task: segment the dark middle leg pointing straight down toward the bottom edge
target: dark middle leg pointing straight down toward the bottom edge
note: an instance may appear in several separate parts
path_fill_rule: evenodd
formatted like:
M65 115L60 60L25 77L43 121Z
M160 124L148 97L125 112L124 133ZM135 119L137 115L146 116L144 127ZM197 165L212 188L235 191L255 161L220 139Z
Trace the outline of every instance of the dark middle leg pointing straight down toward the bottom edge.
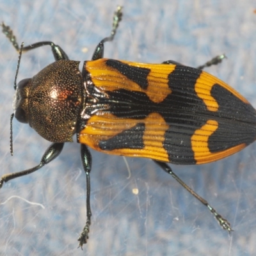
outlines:
M84 172L86 173L86 215L87 220L86 224L83 228L83 231L81 235L79 236L79 246L83 249L83 244L87 243L87 240L89 238L89 231L90 231L90 225L91 225L91 207L90 207L90 193L91 193L91 184L90 184L90 172L92 168L92 156L86 145L81 144L81 159L83 163Z

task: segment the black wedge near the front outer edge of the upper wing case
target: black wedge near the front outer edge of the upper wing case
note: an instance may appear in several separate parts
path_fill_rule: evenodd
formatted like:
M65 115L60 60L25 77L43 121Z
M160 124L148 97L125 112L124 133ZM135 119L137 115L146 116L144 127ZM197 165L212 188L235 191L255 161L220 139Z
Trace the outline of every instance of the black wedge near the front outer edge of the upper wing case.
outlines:
M138 84L141 89L146 90L148 88L148 74L150 73L150 68L140 68L130 66L122 61L118 60L106 60L106 65L111 68L115 68L122 75L126 76L132 82Z

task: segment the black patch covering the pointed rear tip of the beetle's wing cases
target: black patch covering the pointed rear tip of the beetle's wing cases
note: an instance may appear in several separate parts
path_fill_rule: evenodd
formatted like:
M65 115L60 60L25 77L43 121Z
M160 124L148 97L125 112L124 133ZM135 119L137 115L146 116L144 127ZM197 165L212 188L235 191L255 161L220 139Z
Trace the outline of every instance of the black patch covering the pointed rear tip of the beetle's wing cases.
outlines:
M252 143L256 138L256 111L252 105L239 100L219 84L212 86L211 95L218 102L218 116L221 116L219 119L222 122L219 121L218 132L209 138L210 151L218 152L220 148Z

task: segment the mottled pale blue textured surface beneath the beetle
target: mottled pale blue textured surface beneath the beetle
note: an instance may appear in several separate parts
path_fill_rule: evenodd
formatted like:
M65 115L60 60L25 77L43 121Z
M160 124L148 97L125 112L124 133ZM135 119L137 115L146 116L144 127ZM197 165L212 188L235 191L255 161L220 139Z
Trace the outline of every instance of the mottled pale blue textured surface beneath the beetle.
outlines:
M105 56L196 67L218 54L228 59L207 68L256 106L256 8L252 0L89 1L3 0L0 20L19 42L52 40L71 60L90 60L109 35L116 5L124 17ZM88 50L88 51L87 51ZM87 52L86 52L87 51ZM49 47L22 56L19 79L53 61ZM17 53L0 34L0 174L31 168L49 143L28 125L9 118ZM42 170L4 184L0 191L1 255L255 255L256 144L202 166L172 166L235 230L222 230L211 214L149 159L93 154L92 226L84 251L77 237L86 221L85 175L79 145L67 143ZM138 188L138 195L132 189ZM19 198L44 205L31 205Z

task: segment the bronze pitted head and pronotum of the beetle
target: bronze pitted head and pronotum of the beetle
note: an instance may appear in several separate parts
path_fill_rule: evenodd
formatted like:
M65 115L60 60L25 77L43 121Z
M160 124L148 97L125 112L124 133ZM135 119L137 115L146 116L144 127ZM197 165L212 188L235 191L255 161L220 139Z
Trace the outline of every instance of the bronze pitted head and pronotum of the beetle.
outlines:
M83 106L79 61L59 60L19 82L13 100L15 118L52 142L72 141Z

